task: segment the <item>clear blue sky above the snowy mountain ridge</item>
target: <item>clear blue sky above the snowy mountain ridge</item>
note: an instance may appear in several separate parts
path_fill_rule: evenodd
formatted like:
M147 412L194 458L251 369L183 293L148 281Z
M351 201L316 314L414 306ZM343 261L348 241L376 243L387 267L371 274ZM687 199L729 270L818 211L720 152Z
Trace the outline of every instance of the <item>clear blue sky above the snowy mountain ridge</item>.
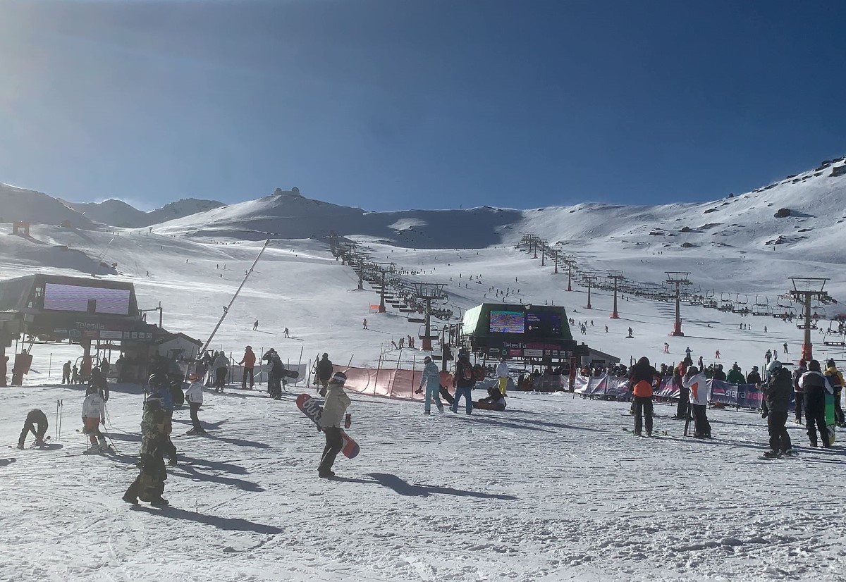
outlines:
M846 3L11 0L0 182L149 210L742 192L846 154Z

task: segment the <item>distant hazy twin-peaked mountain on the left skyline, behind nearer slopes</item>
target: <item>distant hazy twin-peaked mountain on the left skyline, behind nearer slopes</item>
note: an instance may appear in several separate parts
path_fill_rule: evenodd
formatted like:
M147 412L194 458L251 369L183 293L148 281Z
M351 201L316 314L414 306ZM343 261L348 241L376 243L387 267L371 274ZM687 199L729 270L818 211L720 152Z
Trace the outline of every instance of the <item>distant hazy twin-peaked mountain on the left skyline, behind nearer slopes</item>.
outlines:
M123 200L105 200L102 202L61 201L75 211L85 214L93 221L121 228L143 228L151 224L167 222L174 218L187 217L197 212L223 206L223 203L217 202L217 200L184 198L162 206L162 208L145 212L135 209Z

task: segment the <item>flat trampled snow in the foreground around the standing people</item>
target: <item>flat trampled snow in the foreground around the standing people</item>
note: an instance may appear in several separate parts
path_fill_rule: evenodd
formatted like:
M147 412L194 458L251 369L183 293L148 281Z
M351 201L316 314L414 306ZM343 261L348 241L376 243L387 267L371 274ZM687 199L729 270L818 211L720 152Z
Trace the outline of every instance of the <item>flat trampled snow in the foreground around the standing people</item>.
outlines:
M206 391L209 436L185 436L171 508L120 500L135 457L68 456L81 388L4 390L3 442L26 412L63 437L51 450L0 454L0 579L87 580L843 580L843 448L759 459L766 427L711 410L715 440L682 436L658 405L638 438L628 405L569 393L514 394L508 411L421 414L420 403L353 395L359 457L316 477L323 438L294 404ZM107 408L122 453L140 444L138 387ZM53 433L51 426L50 434ZM30 438L31 442L31 438Z

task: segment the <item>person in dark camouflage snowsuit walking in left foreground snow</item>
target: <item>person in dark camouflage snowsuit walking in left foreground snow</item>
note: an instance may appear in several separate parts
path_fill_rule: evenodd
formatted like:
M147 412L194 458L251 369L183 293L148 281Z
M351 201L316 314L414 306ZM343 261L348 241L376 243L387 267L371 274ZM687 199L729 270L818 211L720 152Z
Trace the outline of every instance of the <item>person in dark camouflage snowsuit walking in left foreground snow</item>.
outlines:
M124 501L137 503L150 502L151 505L166 506L168 500L162 497L164 481L168 478L163 454L168 448L170 438L170 417L157 393L144 403L141 419L141 461L140 474L124 493Z

